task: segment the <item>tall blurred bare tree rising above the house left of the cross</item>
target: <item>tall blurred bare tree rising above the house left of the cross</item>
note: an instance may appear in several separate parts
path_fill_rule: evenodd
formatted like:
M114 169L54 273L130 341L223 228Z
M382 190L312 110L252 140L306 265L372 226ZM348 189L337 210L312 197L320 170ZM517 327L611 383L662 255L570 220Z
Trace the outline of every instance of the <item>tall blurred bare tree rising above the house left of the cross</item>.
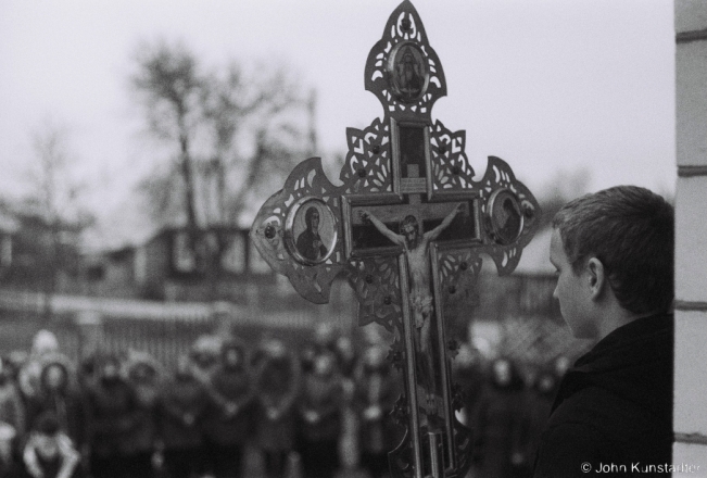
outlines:
M137 55L134 91L150 131L177 158L142 191L162 224L186 213L189 246L212 279L228 241L214 230L238 225L249 203L273 189L261 187L282 179L310 150L307 101L293 77L285 66L235 62L206 72L182 45L143 46ZM199 238L203 230L207 240Z

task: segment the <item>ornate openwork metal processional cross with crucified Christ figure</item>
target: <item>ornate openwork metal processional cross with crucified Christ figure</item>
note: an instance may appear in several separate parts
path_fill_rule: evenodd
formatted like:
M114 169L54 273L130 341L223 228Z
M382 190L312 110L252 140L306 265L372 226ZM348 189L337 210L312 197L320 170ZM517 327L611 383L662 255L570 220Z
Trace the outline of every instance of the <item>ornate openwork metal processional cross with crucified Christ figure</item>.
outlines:
M497 158L475 181L465 131L432 122L446 84L408 0L368 54L365 85L384 116L346 129L341 186L328 180L319 158L300 163L261 207L251 238L312 302L328 302L332 280L345 275L359 325L395 334L389 357L404 370L405 394L394 416L406 433L389 454L393 476L463 477L471 440L454 414L445 310L472 289L482 253L500 274L513 272L540 207Z

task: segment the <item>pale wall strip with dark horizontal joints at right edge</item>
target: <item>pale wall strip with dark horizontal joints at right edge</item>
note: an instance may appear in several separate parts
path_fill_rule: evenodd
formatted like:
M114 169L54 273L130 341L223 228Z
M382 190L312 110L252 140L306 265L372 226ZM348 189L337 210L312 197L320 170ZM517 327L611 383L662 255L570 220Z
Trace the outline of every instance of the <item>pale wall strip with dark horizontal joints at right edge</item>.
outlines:
M707 0L674 0L674 9L676 33L695 40L676 48L677 159L684 172L707 165L707 39L700 38ZM707 311L700 305L707 303L706 175L678 180L676 219L676 298L685 302L676 313L673 464L699 468L673 476L707 477ZM689 437L697 439L689 443Z

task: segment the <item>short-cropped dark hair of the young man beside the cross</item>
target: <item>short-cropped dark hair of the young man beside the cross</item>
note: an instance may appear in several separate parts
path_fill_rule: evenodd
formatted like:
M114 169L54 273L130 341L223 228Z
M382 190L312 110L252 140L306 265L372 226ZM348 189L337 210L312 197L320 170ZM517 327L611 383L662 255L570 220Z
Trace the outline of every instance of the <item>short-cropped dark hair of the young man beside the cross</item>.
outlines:
M666 312L674 295L674 212L660 196L617 186L565 204L553 219L576 274L595 256L621 306Z

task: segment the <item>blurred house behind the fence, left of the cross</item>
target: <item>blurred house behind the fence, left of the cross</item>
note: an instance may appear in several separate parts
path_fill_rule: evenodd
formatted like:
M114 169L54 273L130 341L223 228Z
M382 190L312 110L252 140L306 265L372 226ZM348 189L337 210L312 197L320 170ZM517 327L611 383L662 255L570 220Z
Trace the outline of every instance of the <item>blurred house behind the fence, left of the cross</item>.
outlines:
M248 229L167 227L143 244L86 257L91 295L245 304L277 285Z

